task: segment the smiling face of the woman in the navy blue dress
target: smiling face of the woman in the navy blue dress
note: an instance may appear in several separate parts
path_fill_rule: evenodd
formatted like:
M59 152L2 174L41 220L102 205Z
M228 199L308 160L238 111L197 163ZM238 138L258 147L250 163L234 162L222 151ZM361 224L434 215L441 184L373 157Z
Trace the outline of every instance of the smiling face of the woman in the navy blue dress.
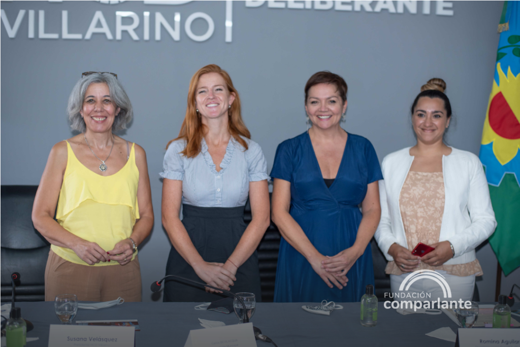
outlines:
M335 85L320 83L310 87L305 111L313 126L321 129L336 126L346 109L347 102L343 103Z

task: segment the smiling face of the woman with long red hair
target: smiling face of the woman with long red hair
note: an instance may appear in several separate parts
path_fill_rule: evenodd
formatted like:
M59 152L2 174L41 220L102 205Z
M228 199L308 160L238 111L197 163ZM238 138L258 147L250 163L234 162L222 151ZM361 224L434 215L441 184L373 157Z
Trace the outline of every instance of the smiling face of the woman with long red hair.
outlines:
M219 73L209 72L200 76L195 103L202 118L227 116L233 101L235 95L228 91L226 81Z

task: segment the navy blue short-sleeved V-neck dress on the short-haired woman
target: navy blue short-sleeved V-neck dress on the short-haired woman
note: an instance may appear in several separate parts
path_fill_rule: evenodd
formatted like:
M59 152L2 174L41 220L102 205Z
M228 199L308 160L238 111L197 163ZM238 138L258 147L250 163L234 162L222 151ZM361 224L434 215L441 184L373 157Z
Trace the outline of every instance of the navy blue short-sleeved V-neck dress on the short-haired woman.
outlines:
M323 181L307 132L278 145L272 178L291 182L291 209L309 241L324 256L352 247L361 222L367 185L383 179L378 156L369 140L348 134L340 168L330 188ZM374 284L370 244L347 273L343 289L329 288L309 262L281 240L276 271L275 302L360 301Z

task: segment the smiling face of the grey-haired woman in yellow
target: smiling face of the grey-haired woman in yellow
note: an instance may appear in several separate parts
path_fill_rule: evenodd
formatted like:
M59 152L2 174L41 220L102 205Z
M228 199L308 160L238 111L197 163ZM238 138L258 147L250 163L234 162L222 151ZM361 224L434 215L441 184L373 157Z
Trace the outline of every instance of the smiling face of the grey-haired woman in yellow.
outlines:
M80 111L87 130L112 131L112 124L119 111L121 109L112 101L110 89L106 83L91 83L88 86Z

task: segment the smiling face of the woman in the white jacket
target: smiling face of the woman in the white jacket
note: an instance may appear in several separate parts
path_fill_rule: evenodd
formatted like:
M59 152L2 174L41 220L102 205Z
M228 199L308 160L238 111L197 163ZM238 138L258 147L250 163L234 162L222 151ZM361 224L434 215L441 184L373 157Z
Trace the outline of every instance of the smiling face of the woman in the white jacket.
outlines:
M443 140L444 131L450 124L444 101L439 98L422 97L412 115L413 131L417 140L433 144Z

